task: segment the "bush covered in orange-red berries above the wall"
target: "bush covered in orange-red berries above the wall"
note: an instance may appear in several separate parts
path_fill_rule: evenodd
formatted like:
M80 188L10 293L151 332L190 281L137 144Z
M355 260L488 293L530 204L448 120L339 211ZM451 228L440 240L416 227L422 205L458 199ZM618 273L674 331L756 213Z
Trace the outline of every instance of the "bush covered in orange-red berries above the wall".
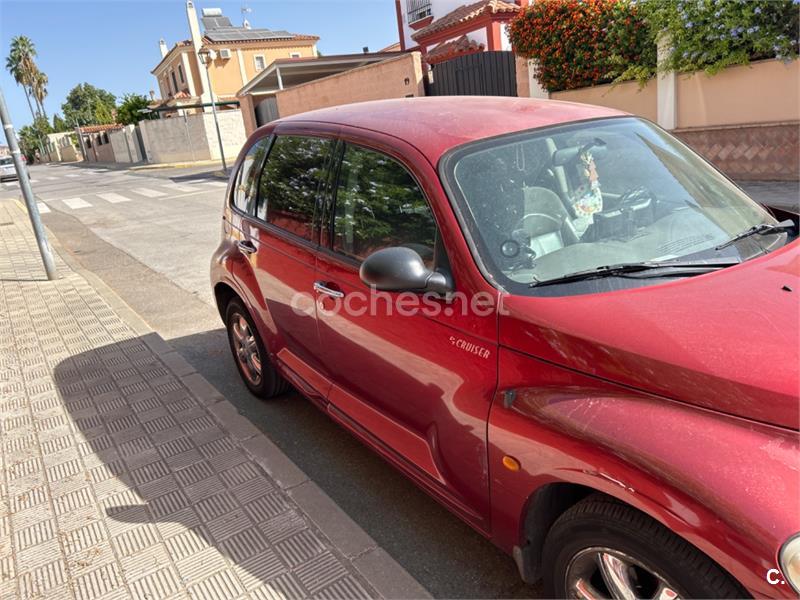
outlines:
M611 82L630 65L655 67L655 45L629 0L536 0L508 33L551 92Z

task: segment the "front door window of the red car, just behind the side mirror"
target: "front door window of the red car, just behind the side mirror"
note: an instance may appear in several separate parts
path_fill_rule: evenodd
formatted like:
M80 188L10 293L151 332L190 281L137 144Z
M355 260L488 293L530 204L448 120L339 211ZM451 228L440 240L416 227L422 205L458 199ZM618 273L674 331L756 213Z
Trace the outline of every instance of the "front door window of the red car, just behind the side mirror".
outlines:
M363 260L389 246L415 250L433 266L436 222L414 179L395 160L348 145L339 171L333 249Z

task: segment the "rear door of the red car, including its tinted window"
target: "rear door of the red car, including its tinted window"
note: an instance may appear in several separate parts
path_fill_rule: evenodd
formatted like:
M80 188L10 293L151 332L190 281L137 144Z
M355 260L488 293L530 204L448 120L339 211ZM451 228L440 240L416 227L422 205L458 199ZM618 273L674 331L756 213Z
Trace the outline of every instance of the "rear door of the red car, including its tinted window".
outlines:
M277 131L258 179L255 214L242 224L243 251L254 265L271 358L315 400L324 400L327 388L315 385L319 337L310 294L319 241L317 204L333 145L330 138Z

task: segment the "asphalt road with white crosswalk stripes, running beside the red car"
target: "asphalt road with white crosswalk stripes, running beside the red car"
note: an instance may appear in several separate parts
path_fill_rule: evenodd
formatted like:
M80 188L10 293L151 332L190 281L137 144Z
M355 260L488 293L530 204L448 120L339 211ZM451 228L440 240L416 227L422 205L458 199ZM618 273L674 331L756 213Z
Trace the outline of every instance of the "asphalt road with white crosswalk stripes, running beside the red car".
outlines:
M208 169L33 166L42 219L434 596L537 597L511 558L296 393L262 402L239 381L208 281L224 181ZM0 196L18 195L15 183Z

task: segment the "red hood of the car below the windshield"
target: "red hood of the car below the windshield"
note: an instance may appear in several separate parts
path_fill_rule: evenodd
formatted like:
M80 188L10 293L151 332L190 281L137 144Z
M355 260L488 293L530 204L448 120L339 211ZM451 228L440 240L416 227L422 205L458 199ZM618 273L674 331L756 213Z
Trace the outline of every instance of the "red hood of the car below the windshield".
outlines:
M559 298L503 295L500 344L681 402L798 429L800 241L661 285Z

